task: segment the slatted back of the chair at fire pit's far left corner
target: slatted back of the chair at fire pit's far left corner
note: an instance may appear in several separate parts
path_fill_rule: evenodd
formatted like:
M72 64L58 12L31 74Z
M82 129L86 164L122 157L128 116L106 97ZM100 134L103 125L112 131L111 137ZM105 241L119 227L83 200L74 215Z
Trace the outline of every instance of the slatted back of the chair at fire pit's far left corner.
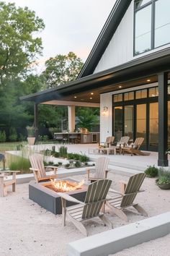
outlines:
M46 177L45 173L45 167L43 163L43 156L40 154L34 154L30 155L30 163L32 168L40 170L40 177L39 178L44 178Z

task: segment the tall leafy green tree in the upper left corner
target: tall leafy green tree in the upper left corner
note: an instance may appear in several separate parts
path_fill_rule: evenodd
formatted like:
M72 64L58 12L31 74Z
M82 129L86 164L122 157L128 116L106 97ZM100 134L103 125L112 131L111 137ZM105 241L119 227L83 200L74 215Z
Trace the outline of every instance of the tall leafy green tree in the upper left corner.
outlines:
M27 7L0 2L0 86L30 68L42 52L42 40L35 36L45 27L42 19Z

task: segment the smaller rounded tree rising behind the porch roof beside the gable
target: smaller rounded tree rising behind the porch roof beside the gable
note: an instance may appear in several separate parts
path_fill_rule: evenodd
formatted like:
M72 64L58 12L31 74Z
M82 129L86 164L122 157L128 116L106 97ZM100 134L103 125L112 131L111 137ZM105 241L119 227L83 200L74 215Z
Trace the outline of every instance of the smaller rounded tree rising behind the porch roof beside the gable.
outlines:
M68 55L58 54L54 58L48 59L45 66L44 76L47 88L55 88L58 85L76 80L83 66L83 61L73 52L69 52Z

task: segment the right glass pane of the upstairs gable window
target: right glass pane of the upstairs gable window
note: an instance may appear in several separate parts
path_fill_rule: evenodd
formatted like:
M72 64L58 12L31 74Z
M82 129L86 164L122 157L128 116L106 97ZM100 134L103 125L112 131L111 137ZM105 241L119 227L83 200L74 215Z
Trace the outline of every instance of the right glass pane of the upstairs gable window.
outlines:
M170 42L170 1L156 1L155 7L155 47Z

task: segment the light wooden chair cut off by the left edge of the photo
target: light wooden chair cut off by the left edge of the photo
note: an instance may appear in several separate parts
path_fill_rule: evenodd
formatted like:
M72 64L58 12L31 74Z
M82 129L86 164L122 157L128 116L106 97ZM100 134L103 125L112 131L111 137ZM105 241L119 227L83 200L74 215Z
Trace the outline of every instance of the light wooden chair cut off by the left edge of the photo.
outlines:
M8 186L12 185L12 191L15 192L16 190L16 174L20 171L10 171L10 170L1 170L0 171L0 196L4 197L7 194ZM12 173L12 179L6 179L6 174Z

